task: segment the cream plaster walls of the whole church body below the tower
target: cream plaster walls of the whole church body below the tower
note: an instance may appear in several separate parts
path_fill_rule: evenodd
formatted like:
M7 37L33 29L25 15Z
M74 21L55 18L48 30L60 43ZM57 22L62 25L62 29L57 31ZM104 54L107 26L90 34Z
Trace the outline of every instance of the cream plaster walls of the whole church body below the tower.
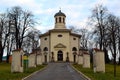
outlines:
M62 35L62 37L58 37L58 35ZM44 40L47 38L47 40ZM76 40L73 40L73 38L76 38ZM42 62L45 62L44 60L44 47L48 48L48 54L47 54L47 60L48 62L51 61L51 52L54 52L54 60L57 61L57 54L59 50L62 50L63 52L63 61L66 61L67 57L67 52L69 53L69 61L73 62L74 61L74 55L72 48L76 47L77 48L77 54L79 52L79 47L80 47L80 39L76 36L70 35L68 31L63 31L63 32L51 32L50 35L48 36L43 36L41 37L41 53L42 53ZM66 48L54 48L57 44L63 44L66 46ZM76 61L78 60L78 56L76 55Z

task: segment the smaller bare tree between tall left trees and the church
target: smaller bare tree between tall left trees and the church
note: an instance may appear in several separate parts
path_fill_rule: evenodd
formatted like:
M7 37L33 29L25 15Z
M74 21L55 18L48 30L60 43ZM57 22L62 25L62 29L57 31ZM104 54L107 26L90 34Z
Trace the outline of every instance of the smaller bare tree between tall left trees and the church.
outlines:
M23 48L30 53L32 50L37 49L39 44L39 35L41 32L36 29L32 29L27 33L27 37L24 38ZM31 51L30 51L31 50Z

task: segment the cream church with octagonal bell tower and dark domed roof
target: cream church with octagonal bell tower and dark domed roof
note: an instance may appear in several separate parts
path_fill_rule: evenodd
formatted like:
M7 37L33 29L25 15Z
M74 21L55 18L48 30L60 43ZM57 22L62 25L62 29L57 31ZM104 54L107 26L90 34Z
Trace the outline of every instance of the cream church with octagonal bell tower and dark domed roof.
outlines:
M54 15L54 29L40 35L42 62L76 62L81 35L66 28L66 15L59 10Z

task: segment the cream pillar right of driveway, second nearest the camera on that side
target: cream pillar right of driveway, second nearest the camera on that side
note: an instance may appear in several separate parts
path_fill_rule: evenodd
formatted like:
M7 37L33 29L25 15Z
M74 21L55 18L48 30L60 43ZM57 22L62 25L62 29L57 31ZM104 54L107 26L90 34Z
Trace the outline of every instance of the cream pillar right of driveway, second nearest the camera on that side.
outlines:
M90 68L90 55L83 53L83 68Z

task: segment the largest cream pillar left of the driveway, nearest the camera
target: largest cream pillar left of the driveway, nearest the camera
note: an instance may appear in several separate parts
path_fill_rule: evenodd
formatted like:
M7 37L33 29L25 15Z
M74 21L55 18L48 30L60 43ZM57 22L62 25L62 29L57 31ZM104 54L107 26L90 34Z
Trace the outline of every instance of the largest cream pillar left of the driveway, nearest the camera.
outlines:
M12 52L11 72L23 72L23 54L21 49Z

